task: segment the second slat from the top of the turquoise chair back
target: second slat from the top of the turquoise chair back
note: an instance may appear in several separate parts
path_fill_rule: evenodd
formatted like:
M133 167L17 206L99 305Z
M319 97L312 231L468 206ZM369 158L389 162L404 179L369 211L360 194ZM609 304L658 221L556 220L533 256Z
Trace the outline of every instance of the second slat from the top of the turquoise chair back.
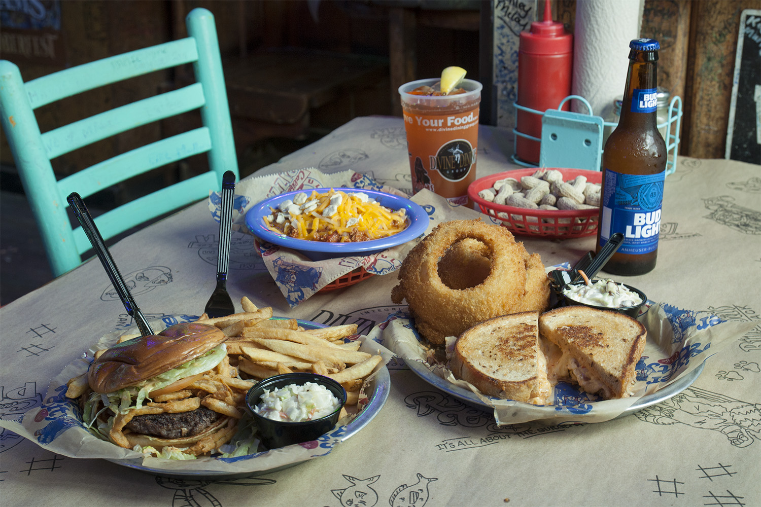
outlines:
M138 100L110 111L45 132L43 143L49 159L60 157L112 135L170 116L198 109L205 103L200 83Z

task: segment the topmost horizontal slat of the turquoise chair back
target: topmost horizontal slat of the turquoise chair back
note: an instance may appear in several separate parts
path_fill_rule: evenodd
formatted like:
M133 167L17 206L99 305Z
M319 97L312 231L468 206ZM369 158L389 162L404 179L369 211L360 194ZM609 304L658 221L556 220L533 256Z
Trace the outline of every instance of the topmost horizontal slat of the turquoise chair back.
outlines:
M188 37L110 56L33 79L27 83L27 93L32 109L37 109L77 93L164 68L195 62L197 59L196 40Z

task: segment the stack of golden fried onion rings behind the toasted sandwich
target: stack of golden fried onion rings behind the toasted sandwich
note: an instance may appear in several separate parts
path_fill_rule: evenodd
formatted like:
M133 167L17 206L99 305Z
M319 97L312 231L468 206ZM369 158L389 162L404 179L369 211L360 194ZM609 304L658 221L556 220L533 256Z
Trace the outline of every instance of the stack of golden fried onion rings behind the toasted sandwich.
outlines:
M538 254L497 225L440 223L398 271L393 303L406 299L418 332L433 345L488 318L549 306L549 279Z

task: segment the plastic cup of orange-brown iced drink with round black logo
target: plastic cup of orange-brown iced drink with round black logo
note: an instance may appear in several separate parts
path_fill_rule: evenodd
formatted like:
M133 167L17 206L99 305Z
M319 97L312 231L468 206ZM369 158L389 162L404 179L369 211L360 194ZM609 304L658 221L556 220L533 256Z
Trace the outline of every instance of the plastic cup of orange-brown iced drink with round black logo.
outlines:
M409 93L438 81L419 79L399 87L412 191L428 189L453 204L467 204L468 185L476 179L482 84L463 79L465 93L454 95Z

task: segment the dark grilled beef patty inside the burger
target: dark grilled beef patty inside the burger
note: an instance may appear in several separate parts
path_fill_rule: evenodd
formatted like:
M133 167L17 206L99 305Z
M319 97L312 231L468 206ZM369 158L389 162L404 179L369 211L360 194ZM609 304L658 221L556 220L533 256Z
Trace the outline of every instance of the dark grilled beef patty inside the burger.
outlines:
M132 417L125 426L135 433L158 436L161 439L180 439L202 433L218 420L221 414L206 407L199 407L179 414L145 414Z

